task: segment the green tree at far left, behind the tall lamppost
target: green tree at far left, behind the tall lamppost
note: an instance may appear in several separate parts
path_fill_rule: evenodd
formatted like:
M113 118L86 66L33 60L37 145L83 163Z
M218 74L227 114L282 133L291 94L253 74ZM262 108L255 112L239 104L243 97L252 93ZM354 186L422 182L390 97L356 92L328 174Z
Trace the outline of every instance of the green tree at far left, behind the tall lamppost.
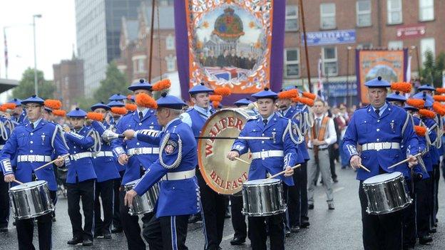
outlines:
M53 98L54 83L51 80L45 80L44 72L37 71L37 84L39 85L39 97L43 99ZM19 85L12 90L14 98L26 99L34 95L34 69L26 68Z

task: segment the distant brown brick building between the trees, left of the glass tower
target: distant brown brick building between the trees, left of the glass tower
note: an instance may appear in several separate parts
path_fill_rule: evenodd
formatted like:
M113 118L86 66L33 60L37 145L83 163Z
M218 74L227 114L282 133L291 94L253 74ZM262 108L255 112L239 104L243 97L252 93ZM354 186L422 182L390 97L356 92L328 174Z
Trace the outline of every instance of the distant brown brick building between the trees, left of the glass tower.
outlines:
M76 98L83 95L83 60L73 55L71 60L62 60L53 64L54 96L61 100L62 107L71 110L76 105Z

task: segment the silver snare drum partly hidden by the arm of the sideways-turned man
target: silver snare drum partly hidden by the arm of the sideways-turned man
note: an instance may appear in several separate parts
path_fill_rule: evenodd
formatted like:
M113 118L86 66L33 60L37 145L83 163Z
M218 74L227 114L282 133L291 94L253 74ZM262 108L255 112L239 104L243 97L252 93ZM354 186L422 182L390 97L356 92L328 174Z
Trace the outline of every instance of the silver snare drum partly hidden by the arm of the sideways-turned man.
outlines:
M134 180L133 182L128 182L125 185L125 190L130 191L133 189L135 184L139 181L139 179ZM129 207L128 214L130 215L139 215L146 214L149 212L153 212L155 209L155 204L158 201L159 196L159 186L158 183L154 184L153 187L148 189L145 194L142 196L136 195L133 199L133 205Z

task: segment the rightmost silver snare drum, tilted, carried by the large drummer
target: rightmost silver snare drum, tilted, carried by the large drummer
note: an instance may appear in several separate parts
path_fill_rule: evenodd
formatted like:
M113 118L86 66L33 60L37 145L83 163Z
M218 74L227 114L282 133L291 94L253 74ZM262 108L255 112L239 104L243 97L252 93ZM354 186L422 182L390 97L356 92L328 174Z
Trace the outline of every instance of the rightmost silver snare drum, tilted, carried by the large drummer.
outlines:
M363 182L368 198L368 214L389 214L408 207L412 199L406 192L405 179L401 172L392 172L369 177Z

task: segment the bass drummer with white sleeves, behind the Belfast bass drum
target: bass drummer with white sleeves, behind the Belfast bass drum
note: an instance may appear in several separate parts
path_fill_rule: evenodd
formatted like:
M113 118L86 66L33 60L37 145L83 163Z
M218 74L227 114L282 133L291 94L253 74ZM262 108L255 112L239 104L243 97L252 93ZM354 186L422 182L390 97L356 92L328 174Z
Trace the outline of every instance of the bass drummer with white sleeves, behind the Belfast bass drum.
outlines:
M193 135L197 137L200 135L205 121L210 115L216 112L210 107L209 94L213 93L213 90L206 87L204 83L201 83L191 88L188 93L190 93L190 98L195 105L183 113L181 117L183 123L188 124L193 130ZM198 139L196 139L196 142L198 144ZM218 250L223 240L225 209L228 205L228 199L225 195L218 194L208 187L200 170L198 170L198 166L196 168L196 177L200 185L201 202L203 203L202 214L204 216L203 224L206 239L205 249ZM190 218L190 222L195 222L196 220L198 220L198 218Z

